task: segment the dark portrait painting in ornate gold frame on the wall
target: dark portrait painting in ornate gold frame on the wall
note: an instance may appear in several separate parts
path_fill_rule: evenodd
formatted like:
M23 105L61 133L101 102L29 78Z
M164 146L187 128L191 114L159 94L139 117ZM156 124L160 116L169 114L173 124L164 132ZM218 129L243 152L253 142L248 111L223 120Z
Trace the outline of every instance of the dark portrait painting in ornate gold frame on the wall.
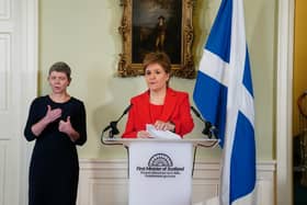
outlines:
M144 75L143 57L146 53L159 50L170 56L172 76L195 78L192 55L194 0L121 0L121 7L120 77Z

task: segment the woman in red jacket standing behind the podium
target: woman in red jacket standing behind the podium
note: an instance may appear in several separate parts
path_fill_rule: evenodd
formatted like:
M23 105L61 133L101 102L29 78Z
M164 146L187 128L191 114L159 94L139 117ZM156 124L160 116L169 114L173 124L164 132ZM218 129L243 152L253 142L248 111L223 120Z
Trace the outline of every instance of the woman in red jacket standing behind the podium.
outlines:
M145 56L145 80L148 90L132 98L123 138L148 138L146 124L157 129L171 130L181 137L190 133L194 123L190 112L189 94L169 88L171 62L164 53Z

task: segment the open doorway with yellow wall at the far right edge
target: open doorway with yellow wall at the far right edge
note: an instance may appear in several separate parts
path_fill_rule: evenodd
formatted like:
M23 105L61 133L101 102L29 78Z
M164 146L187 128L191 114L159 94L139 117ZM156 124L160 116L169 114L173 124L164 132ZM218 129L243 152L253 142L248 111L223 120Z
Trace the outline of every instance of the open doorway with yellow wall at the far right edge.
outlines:
M307 1L295 1L293 70L293 198L307 204Z

